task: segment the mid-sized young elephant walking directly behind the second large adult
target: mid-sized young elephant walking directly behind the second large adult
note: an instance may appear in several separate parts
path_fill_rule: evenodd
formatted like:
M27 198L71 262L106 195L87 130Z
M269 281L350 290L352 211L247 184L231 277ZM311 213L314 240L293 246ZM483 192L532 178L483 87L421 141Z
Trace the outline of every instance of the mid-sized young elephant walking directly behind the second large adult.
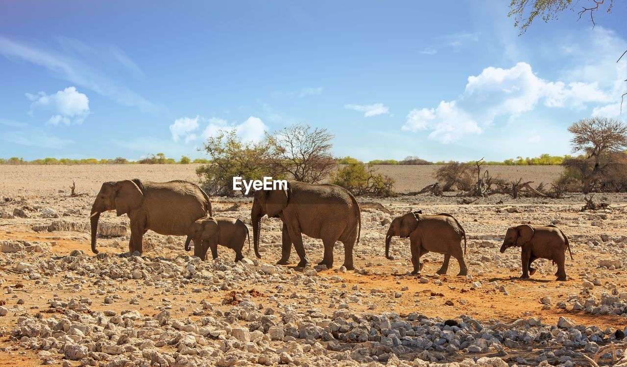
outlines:
M411 263L414 266L412 274L420 274L424 264L420 263L420 256L433 251L444 254L444 262L438 274L446 274L448 261L453 256L460 264L460 273L466 275L468 268L464 262L466 253L466 233L461 224L451 214L423 215L422 211L414 211L394 218L386 234L386 258L389 256L390 241L393 236L408 238L411 248ZM464 239L464 251L461 252L461 239Z

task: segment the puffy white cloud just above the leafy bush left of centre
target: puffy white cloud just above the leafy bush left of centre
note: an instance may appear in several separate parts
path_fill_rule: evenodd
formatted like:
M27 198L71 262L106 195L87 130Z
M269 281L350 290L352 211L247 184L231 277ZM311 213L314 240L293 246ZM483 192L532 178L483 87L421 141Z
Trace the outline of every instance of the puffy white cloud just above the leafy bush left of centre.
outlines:
M199 128L204 125L202 132ZM215 136L220 131L234 130L243 141L258 143L263 139L263 134L268 130L268 126L261 121L260 118L250 116L243 123L229 123L229 121L221 118L208 118L196 116L196 118L180 118L170 125L172 139L175 142L196 141L198 139L206 139L209 136Z

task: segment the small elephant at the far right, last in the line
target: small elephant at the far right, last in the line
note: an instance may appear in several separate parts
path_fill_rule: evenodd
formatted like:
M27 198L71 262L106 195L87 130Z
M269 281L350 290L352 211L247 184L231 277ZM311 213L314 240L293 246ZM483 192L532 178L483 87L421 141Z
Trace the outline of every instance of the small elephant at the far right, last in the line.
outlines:
M522 248L520 258L522 259L522 277L529 278L535 273L531 263L535 259L549 259L557 264L557 280L566 280L566 270L564 269L565 253L568 249L571 254L571 245L568 243L566 234L554 225L545 227L532 227L529 224L522 224L517 227L507 229L501 253L506 249L517 246Z

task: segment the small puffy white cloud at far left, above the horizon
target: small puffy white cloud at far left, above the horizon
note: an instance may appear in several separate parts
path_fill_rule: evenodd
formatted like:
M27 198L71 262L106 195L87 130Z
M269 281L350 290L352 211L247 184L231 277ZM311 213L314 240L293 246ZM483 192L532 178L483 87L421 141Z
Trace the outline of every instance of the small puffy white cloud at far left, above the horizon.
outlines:
M47 121L51 125L82 124L90 114L89 98L76 91L75 87L68 87L50 95L45 92L26 93L26 98L33 101L30 114L37 110L53 113L53 116Z

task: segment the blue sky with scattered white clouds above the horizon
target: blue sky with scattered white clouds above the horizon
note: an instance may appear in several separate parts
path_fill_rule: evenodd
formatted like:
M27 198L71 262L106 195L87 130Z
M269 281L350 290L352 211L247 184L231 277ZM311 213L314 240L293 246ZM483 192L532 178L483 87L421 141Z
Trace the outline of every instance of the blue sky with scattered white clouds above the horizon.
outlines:
M305 122L337 156L500 160L625 121L623 3L522 36L508 4L3 1L0 157L196 158L219 129Z

